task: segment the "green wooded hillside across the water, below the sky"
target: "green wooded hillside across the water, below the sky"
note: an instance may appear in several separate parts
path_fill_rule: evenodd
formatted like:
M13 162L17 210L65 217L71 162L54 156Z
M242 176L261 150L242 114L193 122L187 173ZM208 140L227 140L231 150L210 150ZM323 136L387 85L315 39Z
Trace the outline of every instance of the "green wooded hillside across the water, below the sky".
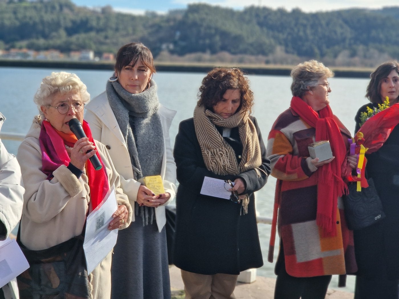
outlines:
M399 57L399 7L305 13L192 4L165 15L135 16L75 6L69 0L0 0L0 49L91 49L116 53L142 41L156 57L191 53L285 53L315 59ZM385 56L384 56L385 55Z

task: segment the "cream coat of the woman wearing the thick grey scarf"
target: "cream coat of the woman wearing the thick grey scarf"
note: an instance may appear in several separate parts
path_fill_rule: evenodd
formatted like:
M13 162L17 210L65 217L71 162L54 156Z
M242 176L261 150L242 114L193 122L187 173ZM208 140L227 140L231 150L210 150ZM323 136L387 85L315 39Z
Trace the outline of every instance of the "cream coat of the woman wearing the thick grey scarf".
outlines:
M107 93L96 96L85 106L85 120L89 122L93 138L99 140L107 146L115 168L121 176L121 184L124 193L129 197L129 201L134 210L134 201L137 200L138 188L140 183L132 183L128 179L133 177L133 168L130 162L130 155L126 142L119 128L114 112L109 105ZM166 223L165 206L170 203L176 195L176 164L174 162L173 151L170 146L169 128L172 124L176 111L169 110L160 106L159 114L164 134L164 155L162 157L161 177L164 182L165 192L170 193L170 199L162 206L155 209L156 223L158 230L161 231ZM154 140L154 145L157 141ZM134 214L132 221L134 221Z

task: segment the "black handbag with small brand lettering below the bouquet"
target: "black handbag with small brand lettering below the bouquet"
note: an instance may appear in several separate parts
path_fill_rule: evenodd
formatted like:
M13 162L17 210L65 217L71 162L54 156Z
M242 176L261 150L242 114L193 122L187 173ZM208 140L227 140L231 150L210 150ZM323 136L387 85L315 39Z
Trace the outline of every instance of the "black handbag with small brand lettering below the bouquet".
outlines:
M348 228L359 230L385 218L381 199L372 178L367 179L369 187L356 191L356 183L348 185L349 193L344 196L345 218Z

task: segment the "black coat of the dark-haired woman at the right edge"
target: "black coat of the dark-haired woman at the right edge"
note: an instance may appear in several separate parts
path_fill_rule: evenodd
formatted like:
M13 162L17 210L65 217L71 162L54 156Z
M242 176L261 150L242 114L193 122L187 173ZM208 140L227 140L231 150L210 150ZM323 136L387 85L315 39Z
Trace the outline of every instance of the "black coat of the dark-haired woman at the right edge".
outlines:
M359 130L360 113L356 114L356 132ZM356 134L355 132L355 134ZM383 146L367 155L367 176L372 177L381 199L386 217L366 228L354 230L357 275L369 279L399 279L399 125Z

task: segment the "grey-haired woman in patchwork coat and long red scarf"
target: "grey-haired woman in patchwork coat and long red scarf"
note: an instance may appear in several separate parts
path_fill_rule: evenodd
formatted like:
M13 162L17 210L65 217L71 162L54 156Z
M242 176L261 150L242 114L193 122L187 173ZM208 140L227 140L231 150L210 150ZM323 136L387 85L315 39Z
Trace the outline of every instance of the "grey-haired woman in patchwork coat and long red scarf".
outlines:
M342 210L356 156L348 157L350 132L329 106L333 75L315 60L294 67L290 107L269 133L267 153L277 178L269 261L277 214L281 240L275 298L322 299L332 274L357 269L353 234ZM333 157L319 161L310 157L308 146L322 140L330 142Z

